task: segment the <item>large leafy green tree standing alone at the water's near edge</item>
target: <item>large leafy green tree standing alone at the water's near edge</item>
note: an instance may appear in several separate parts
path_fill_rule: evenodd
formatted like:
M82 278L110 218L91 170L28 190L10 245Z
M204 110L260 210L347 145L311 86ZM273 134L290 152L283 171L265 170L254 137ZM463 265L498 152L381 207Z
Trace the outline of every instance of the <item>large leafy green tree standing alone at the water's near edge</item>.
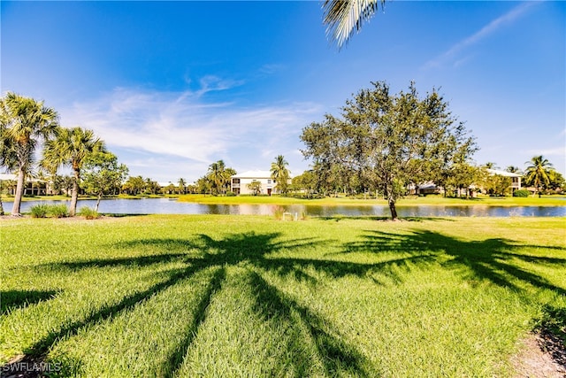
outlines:
M414 83L397 95L385 82L372 84L347 101L341 120L326 117L337 120L333 127L326 122L304 128L302 152L315 164L332 159L356 170L366 186L384 193L396 220L395 203L410 183L436 180L451 165L468 160L476 147L435 89L421 99ZM329 150L318 144L325 133L330 133Z

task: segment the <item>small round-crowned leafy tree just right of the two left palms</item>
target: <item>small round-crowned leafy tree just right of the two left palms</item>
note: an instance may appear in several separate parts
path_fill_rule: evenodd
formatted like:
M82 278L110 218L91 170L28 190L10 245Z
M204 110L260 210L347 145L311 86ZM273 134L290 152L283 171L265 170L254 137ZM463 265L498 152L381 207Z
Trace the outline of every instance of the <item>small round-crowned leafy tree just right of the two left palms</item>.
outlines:
M127 166L119 164L118 157L111 152L95 152L85 159L80 187L96 196L96 212L103 195L119 191L127 173Z

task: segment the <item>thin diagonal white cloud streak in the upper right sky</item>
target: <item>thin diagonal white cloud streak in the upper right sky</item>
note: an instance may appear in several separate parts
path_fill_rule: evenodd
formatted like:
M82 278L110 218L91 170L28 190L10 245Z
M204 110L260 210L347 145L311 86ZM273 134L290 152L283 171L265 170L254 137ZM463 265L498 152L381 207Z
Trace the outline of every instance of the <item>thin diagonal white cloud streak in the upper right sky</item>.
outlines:
M532 8L532 6L539 4L539 1L530 1L523 4L517 5L515 8L509 12L503 14L497 19L493 19L485 27L479 29L473 35L464 38L462 41L455 43L450 49L440 54L440 56L429 60L425 65L424 69L434 68L439 66L444 66L447 64L460 65L470 57L462 57L465 50L470 46L486 39L493 33L497 32L501 27L505 27L513 23L516 19L519 19L525 12Z

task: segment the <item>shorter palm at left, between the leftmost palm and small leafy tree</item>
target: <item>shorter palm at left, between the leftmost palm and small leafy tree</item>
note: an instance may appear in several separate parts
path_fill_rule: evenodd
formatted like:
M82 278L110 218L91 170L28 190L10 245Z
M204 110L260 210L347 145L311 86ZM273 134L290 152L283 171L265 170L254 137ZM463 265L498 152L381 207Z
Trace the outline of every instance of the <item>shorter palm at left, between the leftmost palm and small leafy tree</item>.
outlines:
M73 169L73 191L69 209L71 216L77 211L80 169L90 154L103 151L103 141L97 138L92 130L80 127L57 127L55 139L45 143L42 166L50 172L56 172L59 166L71 166Z

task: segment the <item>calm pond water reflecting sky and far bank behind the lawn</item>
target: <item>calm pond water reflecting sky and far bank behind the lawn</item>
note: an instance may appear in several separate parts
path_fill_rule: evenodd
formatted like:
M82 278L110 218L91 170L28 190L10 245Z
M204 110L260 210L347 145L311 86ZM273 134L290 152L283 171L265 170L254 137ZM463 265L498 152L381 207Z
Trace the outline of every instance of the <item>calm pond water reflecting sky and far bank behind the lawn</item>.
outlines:
M29 201L22 202L21 211L29 212L34 204L61 204L66 201ZM78 209L82 206L94 208L95 200L79 201ZM254 214L271 215L275 209L272 204L192 204L177 202L168 198L142 199L104 199L100 203L99 212L116 214ZM331 217L333 215L347 216L390 216L386 205L374 206L317 206L293 204L283 206L287 212L303 212L310 216ZM4 204L4 209L11 210L11 204ZM400 206L397 207L400 217L564 217L566 206Z

